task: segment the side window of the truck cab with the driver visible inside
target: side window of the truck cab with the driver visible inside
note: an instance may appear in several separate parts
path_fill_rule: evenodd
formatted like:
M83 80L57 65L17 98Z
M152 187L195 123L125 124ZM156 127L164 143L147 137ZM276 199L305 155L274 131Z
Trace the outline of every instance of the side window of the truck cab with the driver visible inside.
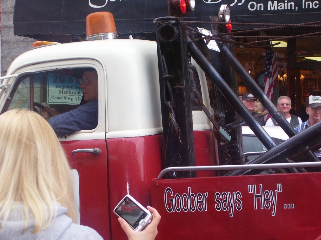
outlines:
M31 102L33 106L30 106ZM97 71L94 68L75 68L23 76L16 81L4 109L14 108L38 111L58 136L94 129L98 123ZM64 131L59 128L64 128Z

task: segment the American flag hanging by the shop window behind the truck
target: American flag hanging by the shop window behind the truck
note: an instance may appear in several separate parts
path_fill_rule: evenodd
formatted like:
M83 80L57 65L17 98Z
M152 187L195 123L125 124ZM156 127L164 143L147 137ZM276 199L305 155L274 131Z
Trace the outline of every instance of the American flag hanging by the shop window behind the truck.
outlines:
M278 62L273 53L272 47L268 47L265 51L265 77L264 77L264 93L272 101L274 95L274 87L278 81L278 74L280 73L280 68ZM265 122L271 116L270 114L266 117Z

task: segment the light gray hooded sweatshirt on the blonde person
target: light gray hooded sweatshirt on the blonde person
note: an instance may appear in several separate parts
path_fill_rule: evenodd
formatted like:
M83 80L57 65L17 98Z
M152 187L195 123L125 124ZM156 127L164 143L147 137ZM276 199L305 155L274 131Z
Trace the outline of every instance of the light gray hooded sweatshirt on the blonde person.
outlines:
M92 228L75 224L66 215L67 208L57 203L57 213L54 221L45 229L36 234L31 231L34 228L34 220L29 218L27 230L24 234L25 218L21 217L23 205L18 204L9 214L2 230L0 230L1 240L102 240L103 238ZM23 216L24 214L22 214ZM0 224L2 224L2 218Z

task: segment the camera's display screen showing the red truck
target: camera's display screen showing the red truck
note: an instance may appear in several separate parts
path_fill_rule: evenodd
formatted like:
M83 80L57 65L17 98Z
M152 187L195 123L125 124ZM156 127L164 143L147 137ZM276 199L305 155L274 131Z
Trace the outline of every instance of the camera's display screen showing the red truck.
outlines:
M138 207L128 197L118 205L115 210L119 216L125 219L133 228L137 228L140 220L144 219L147 215L140 207Z

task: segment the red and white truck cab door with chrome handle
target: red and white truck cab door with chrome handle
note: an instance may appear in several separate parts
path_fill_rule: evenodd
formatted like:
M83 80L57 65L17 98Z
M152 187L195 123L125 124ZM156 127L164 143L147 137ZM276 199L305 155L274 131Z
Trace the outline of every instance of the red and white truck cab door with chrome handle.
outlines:
M104 239L109 239L108 176L105 117L105 72L101 65L81 65L74 68L51 68L34 71L13 80L8 88L5 112L14 108L30 108L43 116L50 115L38 106L44 105L65 114L80 105L82 72L89 67L98 74L98 122L93 129L80 130L58 136L69 159L75 179L75 195L82 225L94 228ZM39 66L37 66L38 68ZM39 69L39 68L38 68ZM55 69L55 70L52 70ZM38 104L37 104L38 103ZM92 120L97 121L97 120ZM68 121L63 124L68 125ZM43 134L46 134L45 132ZM49 148L50 146L48 146Z

